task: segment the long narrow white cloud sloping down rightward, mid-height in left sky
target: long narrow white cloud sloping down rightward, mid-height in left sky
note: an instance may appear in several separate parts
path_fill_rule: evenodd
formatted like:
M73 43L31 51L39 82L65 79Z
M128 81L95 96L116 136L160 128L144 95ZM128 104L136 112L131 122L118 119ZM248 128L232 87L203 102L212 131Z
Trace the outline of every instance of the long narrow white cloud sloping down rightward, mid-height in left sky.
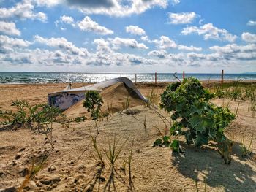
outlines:
M88 55L86 48L76 47L72 42L68 42L64 37L47 39L40 37L39 35L35 35L34 42L39 42L48 45L49 47L58 47L59 49L67 50L67 52L72 55Z

